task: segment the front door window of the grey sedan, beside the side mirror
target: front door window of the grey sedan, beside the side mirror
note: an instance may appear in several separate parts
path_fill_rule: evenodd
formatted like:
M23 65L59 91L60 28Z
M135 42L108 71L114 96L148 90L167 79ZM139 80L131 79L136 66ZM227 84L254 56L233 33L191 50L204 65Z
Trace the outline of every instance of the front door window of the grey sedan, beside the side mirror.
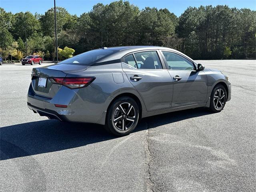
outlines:
M194 70L194 64L190 60L180 56L179 54L162 51L167 61L169 69L172 70Z

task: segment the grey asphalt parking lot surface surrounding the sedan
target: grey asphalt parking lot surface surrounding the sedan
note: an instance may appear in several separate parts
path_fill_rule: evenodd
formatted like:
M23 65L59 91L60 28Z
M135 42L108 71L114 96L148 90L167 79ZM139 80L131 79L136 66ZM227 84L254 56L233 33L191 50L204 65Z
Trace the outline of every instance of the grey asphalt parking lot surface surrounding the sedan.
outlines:
M100 125L34 114L26 94L38 65L3 64L0 191L255 191L256 60L198 62L229 76L232 98L222 112L144 118L120 138Z

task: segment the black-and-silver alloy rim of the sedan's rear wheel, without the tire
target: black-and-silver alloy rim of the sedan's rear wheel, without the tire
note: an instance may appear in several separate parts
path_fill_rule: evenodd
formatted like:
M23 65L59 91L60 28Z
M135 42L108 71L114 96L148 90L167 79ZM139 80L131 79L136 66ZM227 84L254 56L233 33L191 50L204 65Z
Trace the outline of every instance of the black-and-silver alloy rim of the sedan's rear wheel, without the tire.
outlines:
M112 122L121 131L126 131L134 124L136 113L134 106L128 102L119 104L113 114Z

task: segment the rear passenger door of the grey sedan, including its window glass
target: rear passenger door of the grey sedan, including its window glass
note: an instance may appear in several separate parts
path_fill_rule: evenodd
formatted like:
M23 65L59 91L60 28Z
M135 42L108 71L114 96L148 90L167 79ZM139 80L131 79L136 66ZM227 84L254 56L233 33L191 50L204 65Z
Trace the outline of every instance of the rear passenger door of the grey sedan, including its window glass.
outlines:
M158 50L147 50L122 58L122 69L142 97L147 111L171 108L172 79L159 54Z

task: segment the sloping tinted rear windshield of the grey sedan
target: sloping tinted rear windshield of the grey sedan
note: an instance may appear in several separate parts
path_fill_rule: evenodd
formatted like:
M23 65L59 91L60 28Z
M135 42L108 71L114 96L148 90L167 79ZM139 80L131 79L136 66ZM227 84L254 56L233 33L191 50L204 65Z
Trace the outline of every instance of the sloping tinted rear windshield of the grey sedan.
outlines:
M113 53L118 52L118 50L103 50L97 49L82 54L76 55L72 58L66 59L59 64L74 64L74 65L86 65L90 66L93 63L96 63L98 60L106 58L107 56L112 55Z

